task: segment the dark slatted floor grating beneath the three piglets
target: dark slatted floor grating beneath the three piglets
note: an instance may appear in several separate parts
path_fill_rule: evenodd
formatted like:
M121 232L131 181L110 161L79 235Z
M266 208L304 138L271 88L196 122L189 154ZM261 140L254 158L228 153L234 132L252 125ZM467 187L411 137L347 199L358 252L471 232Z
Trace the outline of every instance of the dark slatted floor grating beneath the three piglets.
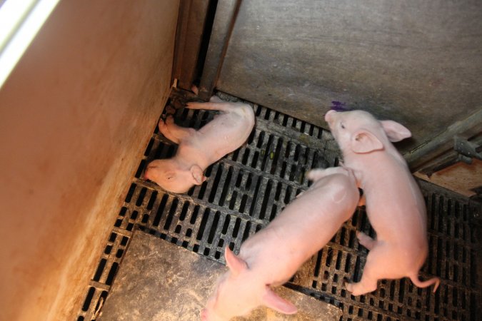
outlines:
M177 103L171 101L172 106ZM246 146L211 165L206 170L208 180L185 195L166 193L140 179L146 163L175 152L175 146L154 133L78 320L96 319L134 228L223 262L226 245L239 250L243 240L308 188L306 170L337 165L338 150L329 132L262 106L253 108L256 129ZM213 115L179 108L175 118L184 126L199 128ZM407 279L383 280L376 292L360 297L344 290L343 280L359 280L366 260L367 250L358 245L356 230L374 234L361 208L301 267L288 287L341 307L341 320L477 320L479 243L472 223L473 216L481 213L481 205L435 185L421 182L421 187L428 206L431 248L421 275L441 277L435 294L428 288L413 287Z

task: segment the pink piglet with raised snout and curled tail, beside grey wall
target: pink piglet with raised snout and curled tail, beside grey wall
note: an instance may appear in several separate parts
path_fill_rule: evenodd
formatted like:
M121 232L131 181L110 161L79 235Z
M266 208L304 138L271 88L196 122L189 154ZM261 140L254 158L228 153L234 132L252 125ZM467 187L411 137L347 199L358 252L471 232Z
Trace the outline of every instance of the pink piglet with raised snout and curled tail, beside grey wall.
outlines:
M395 121L377 121L366 111L328 111L325 120L363 189L366 213L376 240L358 232L358 241L370 250L360 282L348 283L352 295L376 290L377 280L409 277L418 287L418 271L428 254L426 205L406 161L391 144L411 136Z

